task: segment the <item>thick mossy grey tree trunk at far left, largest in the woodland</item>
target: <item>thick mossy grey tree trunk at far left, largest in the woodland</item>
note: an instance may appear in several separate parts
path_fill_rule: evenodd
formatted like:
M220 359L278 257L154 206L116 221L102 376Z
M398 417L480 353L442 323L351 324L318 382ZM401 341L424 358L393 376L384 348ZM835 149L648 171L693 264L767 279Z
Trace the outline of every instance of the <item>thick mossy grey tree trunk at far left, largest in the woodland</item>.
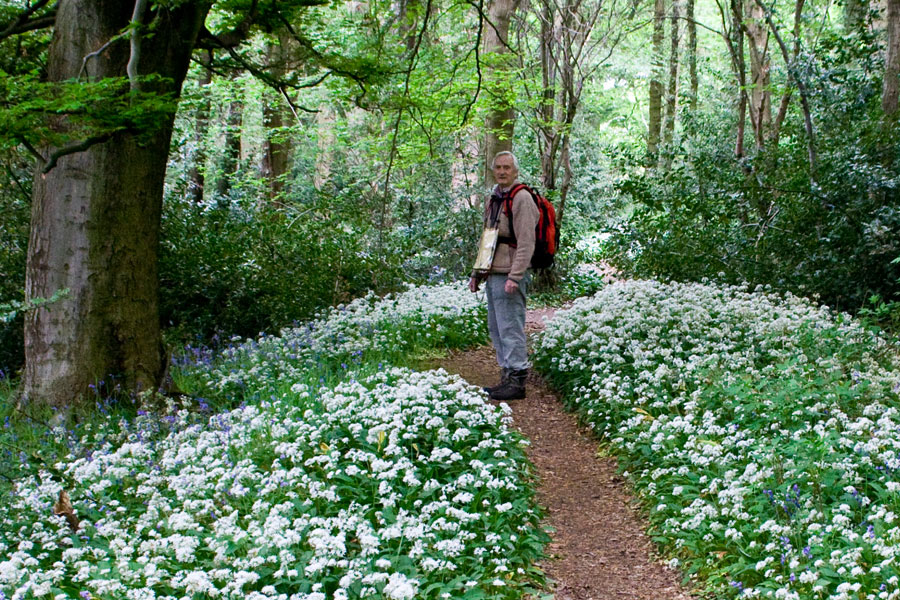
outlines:
M177 95L206 4L158 5L153 35L143 41L138 73L162 75L145 91ZM61 0L50 45L50 81L79 76L84 57L131 21L129 3ZM123 77L128 44L119 41L86 61L92 80ZM35 177L26 296L68 296L28 314L25 399L68 406L101 380L150 390L163 367L157 250L163 180L174 114L141 139L119 133L59 159ZM60 130L67 123L61 119ZM45 156L56 149L45 149Z

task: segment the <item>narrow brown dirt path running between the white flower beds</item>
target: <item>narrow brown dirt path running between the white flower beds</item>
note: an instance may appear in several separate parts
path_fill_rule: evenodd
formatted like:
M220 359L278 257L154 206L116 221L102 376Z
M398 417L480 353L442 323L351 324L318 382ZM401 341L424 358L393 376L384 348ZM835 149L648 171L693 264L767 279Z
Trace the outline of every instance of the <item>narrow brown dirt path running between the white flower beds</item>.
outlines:
M529 311L526 328L543 327L552 311ZM493 351L479 348L440 363L475 385L496 383ZM554 530L543 568L555 600L686 600L679 577L654 559L640 516L614 459L598 457L597 442L566 413L536 377L528 397L510 402L515 426L531 440L538 500Z

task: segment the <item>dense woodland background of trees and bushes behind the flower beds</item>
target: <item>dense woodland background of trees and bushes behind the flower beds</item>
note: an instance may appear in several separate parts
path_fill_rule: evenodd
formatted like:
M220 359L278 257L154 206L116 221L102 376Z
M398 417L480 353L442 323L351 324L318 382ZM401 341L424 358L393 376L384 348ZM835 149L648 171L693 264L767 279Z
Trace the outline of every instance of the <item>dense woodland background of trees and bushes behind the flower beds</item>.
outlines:
M548 288L609 261L900 323L900 0L112 4L0 3L0 368L36 402L465 276L509 147Z

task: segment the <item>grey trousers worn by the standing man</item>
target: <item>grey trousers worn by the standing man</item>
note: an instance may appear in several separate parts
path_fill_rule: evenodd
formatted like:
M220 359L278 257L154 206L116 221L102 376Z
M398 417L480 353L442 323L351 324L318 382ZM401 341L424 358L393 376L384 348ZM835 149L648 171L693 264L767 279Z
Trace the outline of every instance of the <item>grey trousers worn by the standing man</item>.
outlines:
M489 275L485 285L488 300L488 330L497 351L497 364L501 368L520 371L528 368L528 351L525 348L525 296L531 276L525 274L514 294L504 290L506 274Z

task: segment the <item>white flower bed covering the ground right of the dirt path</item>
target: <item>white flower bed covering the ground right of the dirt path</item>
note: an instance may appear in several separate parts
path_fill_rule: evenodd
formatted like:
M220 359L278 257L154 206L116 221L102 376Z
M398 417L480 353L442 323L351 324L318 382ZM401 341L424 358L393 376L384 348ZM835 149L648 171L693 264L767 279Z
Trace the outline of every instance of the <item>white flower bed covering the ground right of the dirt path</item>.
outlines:
M557 313L536 354L692 571L733 596L900 598L882 339L791 295L630 281Z

